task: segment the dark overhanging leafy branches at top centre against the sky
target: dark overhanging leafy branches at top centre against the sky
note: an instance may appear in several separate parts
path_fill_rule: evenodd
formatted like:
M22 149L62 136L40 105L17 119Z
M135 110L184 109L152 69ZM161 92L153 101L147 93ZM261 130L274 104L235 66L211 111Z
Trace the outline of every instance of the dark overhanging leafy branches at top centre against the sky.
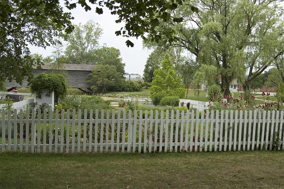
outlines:
M102 14L102 7L105 6L111 10L111 14L117 15L116 23L125 23L124 27L116 31L116 35L125 37L148 37L153 41L160 41L162 36L167 36L169 42L176 41L173 30L157 30L156 27L162 22L181 22L182 18L170 14L170 10L174 10L178 5L182 5L184 0L147 0L147 1L124 1L124 0L80 0L77 3L70 3L65 0L65 5L69 9L73 9L77 4L81 5L86 11L91 10L88 5L95 4L96 13ZM192 11L198 12L198 9L190 5ZM134 44L127 40L126 45L133 47Z

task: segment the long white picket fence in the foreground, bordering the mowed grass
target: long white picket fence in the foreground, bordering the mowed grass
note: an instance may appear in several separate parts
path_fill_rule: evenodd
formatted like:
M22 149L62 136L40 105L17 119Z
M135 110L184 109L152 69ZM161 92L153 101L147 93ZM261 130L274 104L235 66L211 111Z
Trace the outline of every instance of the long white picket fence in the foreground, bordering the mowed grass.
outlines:
M69 109L67 112L33 109L31 114L2 109L1 150L151 153L284 149L283 111L207 110L199 116L199 111L195 114L194 110L146 110L145 114L137 110L118 110L117 113L115 110L95 110L94 113L84 110L83 117L81 114L81 110L76 115L75 110L70 112ZM40 119L37 115L41 115Z

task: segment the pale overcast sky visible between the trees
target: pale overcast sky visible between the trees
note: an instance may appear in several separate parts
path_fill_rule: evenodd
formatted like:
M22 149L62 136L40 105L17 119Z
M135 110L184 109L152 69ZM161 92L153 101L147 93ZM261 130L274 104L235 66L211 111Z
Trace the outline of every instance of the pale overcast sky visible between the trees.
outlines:
M63 6L63 5L62 5ZM103 34L99 40L99 45L103 46L106 44L107 47L114 47L120 50L122 62L125 63L126 73L138 73L143 74L144 66L150 51L142 48L141 38L127 38L122 36L116 36L115 31L120 30L124 24L117 24L117 16L111 15L108 9L103 9L103 14L99 15L95 12L96 6L91 6L92 10L86 12L81 6L77 6L75 9L68 10L64 7L65 12L71 12L74 20L73 24L78 25L79 23L85 24L88 20L94 20L100 24L100 28L103 29ZM126 40L130 40L134 43L134 47L127 47L125 44ZM66 44L66 42L65 42ZM31 53L42 54L44 57L52 54L53 48L47 47L46 49L29 46Z

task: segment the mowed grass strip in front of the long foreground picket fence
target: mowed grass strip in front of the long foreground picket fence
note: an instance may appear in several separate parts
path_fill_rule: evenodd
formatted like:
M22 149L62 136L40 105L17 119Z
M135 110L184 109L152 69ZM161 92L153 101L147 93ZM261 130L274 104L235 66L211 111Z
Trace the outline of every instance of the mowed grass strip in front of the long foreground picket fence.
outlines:
M283 188L284 152L0 154L0 188Z

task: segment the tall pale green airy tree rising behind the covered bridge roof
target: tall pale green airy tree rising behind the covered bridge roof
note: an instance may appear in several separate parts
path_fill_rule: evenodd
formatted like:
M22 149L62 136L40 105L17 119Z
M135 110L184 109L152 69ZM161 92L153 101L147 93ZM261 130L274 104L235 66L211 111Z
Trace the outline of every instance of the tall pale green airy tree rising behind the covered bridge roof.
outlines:
M75 29L67 36L68 46L65 55L69 63L95 64L94 53L98 48L102 29L98 23L89 20L86 24L75 25Z

